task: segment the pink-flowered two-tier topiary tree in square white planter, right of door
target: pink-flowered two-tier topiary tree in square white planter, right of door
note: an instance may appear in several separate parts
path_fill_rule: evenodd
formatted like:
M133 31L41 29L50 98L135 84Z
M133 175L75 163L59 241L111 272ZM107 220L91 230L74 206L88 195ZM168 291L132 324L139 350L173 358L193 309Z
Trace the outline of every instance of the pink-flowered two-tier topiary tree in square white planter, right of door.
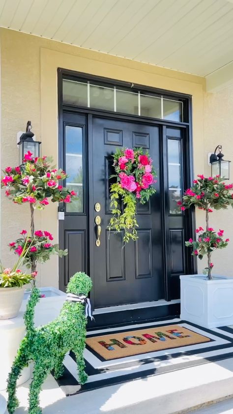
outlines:
M233 184L226 184L220 176L204 177L203 175L198 175L193 184L193 187L185 191L183 202L180 201L177 204L181 210L194 206L205 211L205 230L203 227L196 229L197 239L190 238L185 245L193 248L193 256L198 256L201 260L204 255L207 256L204 274L211 279L211 270L214 266L211 262L211 255L213 251L227 247L230 240L224 237L224 230L219 229L216 232L209 226L209 213L213 211L212 208L220 210L229 206L233 207Z

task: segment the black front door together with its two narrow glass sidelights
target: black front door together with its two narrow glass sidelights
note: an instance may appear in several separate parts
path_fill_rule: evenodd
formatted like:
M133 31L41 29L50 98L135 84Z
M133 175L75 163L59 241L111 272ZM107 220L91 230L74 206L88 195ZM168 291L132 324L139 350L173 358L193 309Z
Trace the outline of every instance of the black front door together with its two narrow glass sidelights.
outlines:
M69 175L65 185L78 194L71 205L60 206L59 242L69 251L59 262L60 289L75 272L85 271L93 280L95 308L178 298L179 275L192 271L184 250L187 223L176 206L186 185L186 127L65 111L60 125L60 166ZM156 194L137 206L139 238L125 246L122 233L107 230L112 155L123 147L147 149L157 172Z

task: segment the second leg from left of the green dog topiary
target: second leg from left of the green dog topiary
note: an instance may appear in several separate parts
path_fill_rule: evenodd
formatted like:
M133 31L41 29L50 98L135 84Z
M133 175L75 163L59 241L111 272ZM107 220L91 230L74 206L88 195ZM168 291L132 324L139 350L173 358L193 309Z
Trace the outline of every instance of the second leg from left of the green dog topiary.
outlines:
M43 360L36 361L33 370L33 379L29 390L29 414L42 414L39 407L39 394L44 380L50 369L44 366Z

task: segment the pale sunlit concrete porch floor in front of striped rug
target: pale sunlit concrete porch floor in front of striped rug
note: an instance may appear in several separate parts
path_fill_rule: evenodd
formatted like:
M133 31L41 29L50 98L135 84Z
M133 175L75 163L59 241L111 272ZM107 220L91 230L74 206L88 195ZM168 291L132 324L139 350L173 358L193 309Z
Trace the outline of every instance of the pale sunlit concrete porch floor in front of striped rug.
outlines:
M18 388L20 408L16 414L27 412L28 391L29 382ZM1 393L6 397L5 391ZM233 396L233 358L228 358L70 397L64 396L57 382L49 375L40 400L43 414L172 414L181 411L188 413L194 407L200 408L231 395ZM229 404L230 400L225 402L226 407ZM208 413L205 410L217 408L218 405L202 408L196 413L205 414Z

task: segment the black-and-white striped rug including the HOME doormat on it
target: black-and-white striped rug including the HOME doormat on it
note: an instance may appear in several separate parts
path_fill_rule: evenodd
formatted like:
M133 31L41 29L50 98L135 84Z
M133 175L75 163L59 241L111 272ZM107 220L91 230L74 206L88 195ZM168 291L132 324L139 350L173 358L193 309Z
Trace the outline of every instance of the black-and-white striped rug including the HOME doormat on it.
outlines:
M73 352L65 355L57 381L66 396L233 356L233 333L206 329L178 318L93 329L84 358L87 383L80 385Z

